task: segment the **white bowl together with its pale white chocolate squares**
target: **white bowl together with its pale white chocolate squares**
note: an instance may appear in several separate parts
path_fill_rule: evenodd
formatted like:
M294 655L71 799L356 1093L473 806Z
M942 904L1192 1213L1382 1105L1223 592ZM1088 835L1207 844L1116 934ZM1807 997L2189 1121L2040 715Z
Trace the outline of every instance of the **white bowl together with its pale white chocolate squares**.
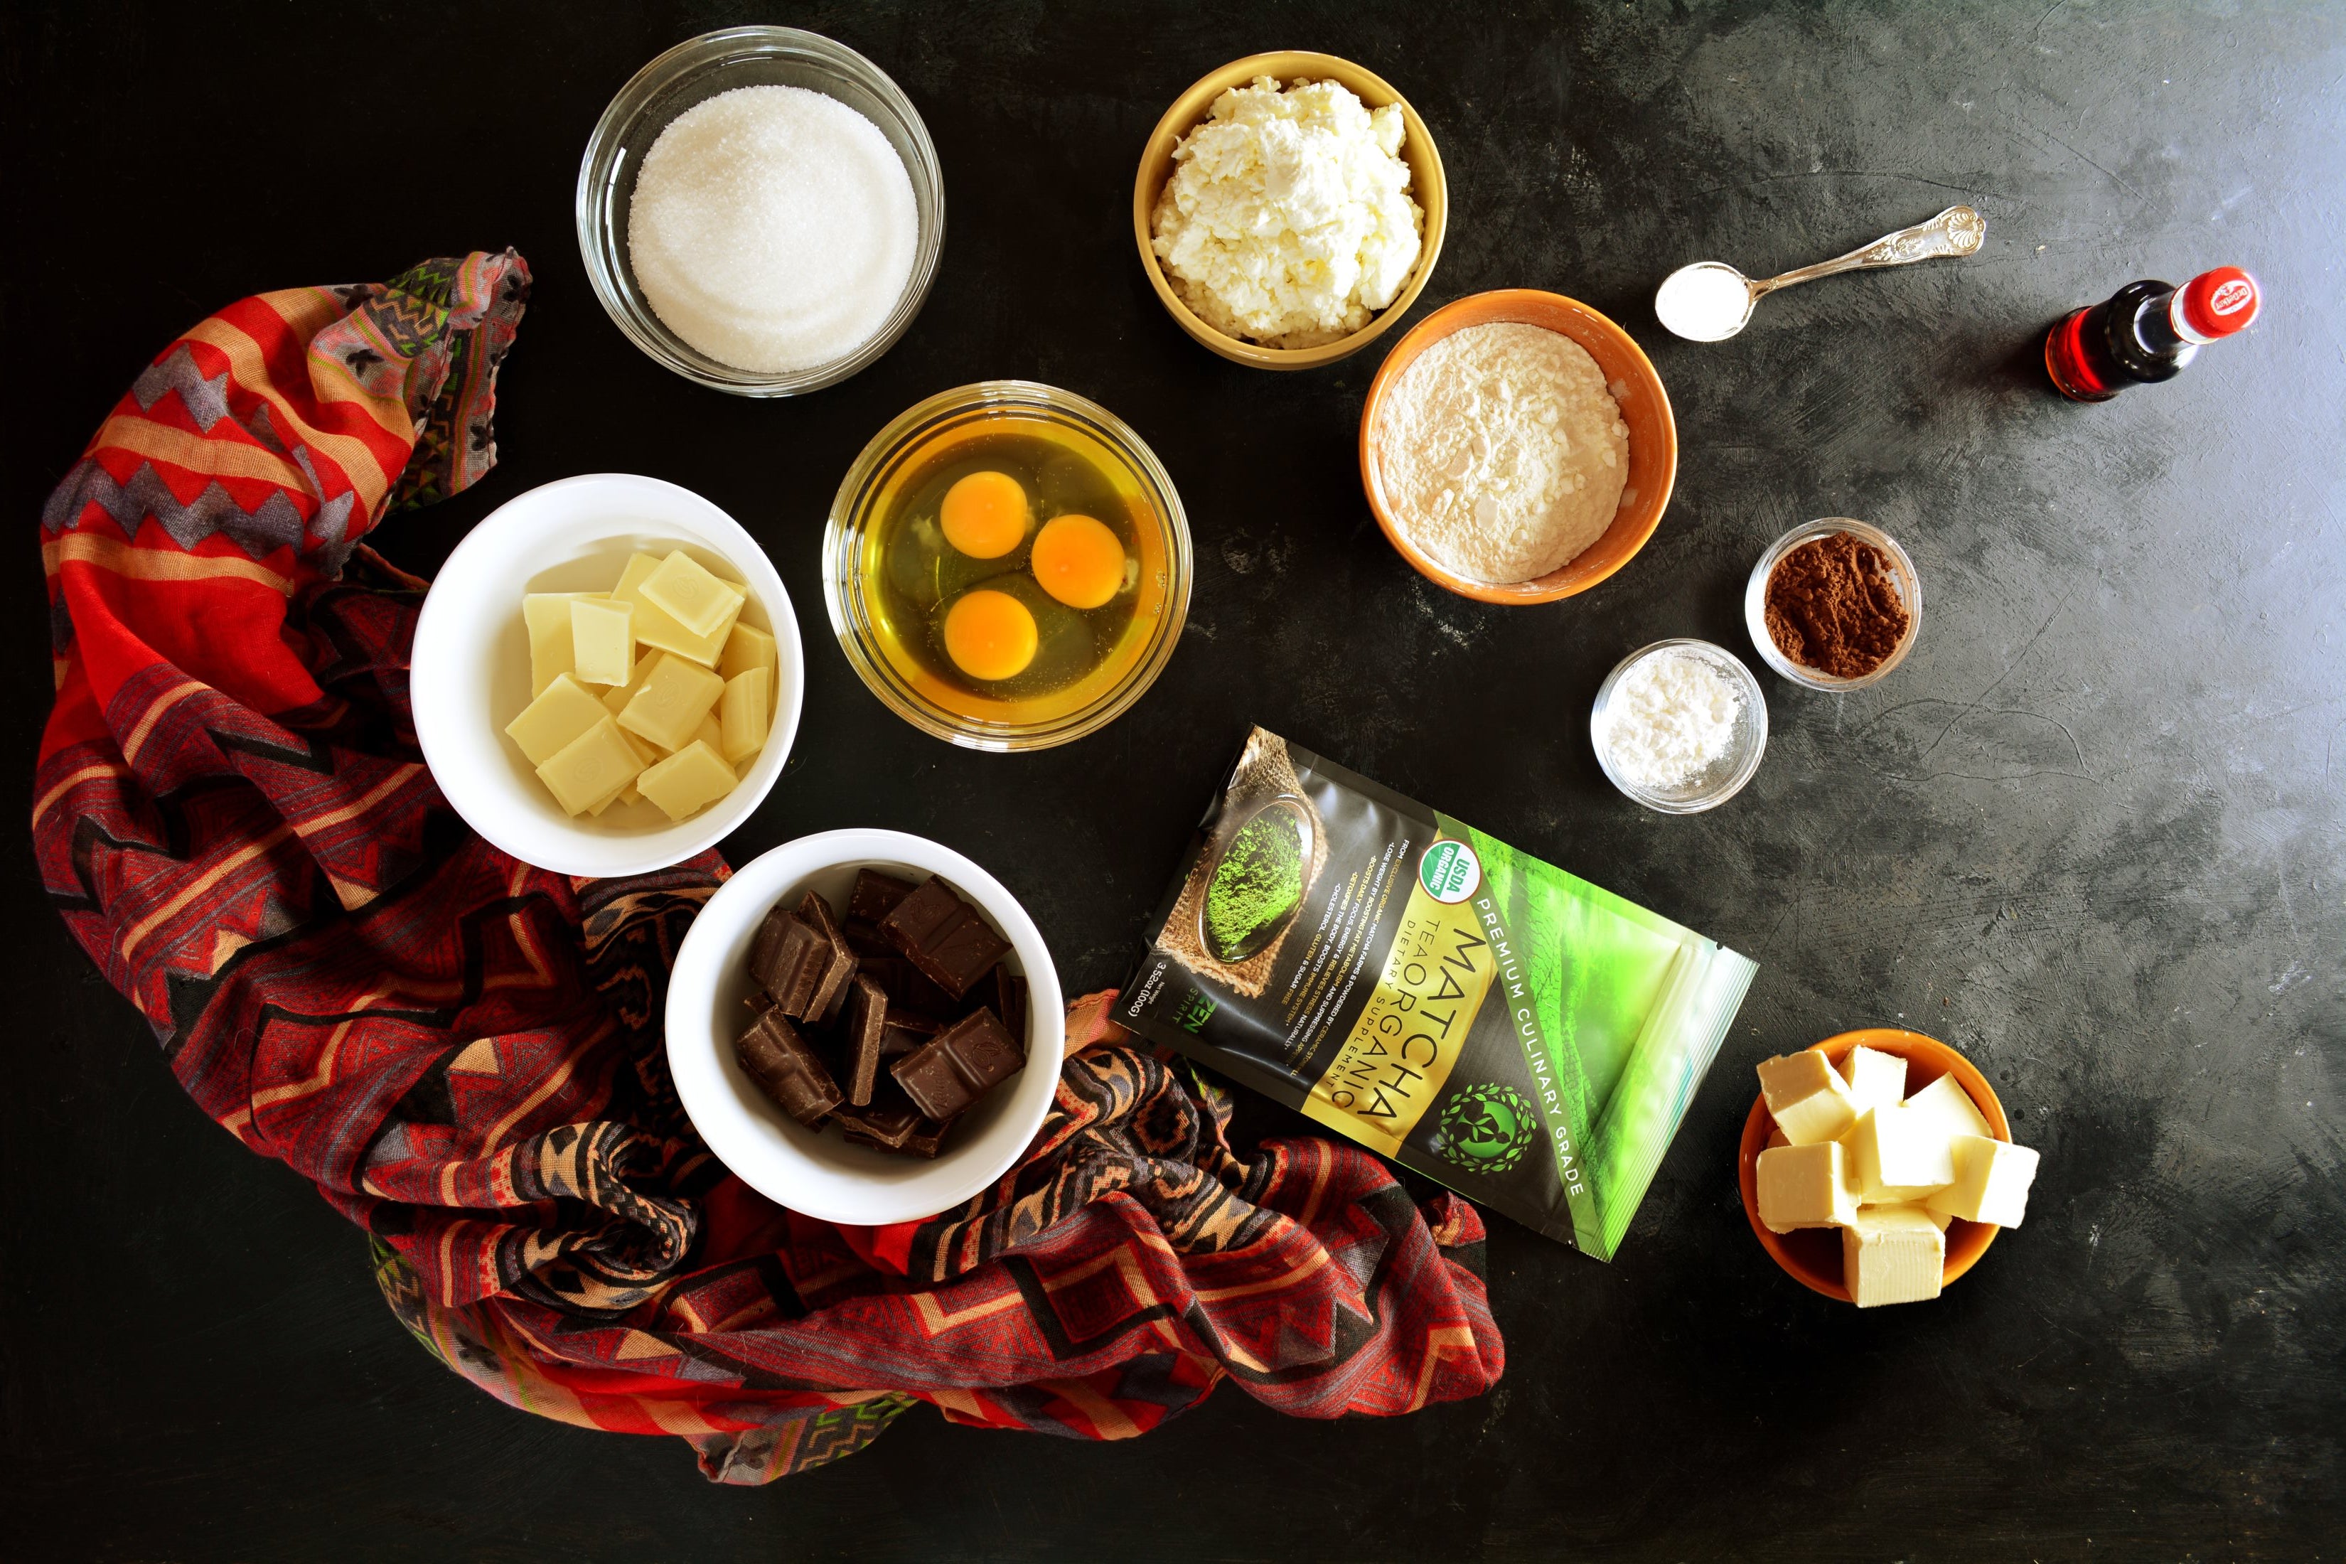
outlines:
M432 778L493 846L561 875L643 875L713 846L772 790L805 654L741 523L659 478L589 474L509 499L457 544L408 689Z

